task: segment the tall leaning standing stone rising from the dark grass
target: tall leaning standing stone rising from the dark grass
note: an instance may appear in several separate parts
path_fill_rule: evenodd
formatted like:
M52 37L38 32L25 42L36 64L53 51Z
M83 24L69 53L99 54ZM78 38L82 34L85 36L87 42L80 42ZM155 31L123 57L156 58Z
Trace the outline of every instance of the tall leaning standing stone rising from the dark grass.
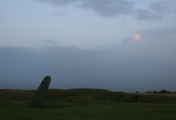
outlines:
M44 107L44 98L46 96L48 87L50 85L51 77L46 76L43 81L40 83L40 86L38 87L32 102L31 106L34 107Z

